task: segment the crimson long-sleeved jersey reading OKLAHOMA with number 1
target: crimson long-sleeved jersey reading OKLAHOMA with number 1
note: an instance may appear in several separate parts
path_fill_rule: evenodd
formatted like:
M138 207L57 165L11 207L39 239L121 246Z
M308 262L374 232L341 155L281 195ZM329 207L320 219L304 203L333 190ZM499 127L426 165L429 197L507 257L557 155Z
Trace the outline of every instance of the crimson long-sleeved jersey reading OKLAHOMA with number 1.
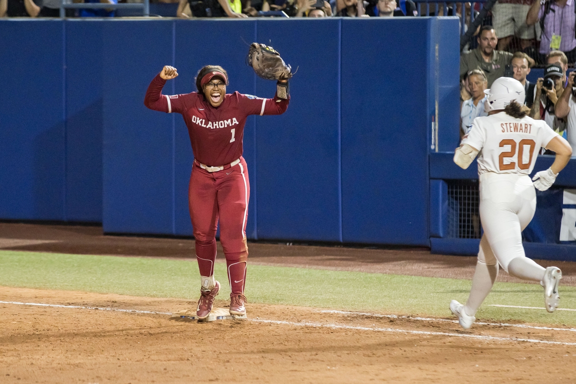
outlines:
M280 115L288 108L288 100L278 96L260 98L238 92L226 94L222 104L214 108L198 92L162 94L165 83L157 75L148 86L144 104L154 111L181 113L194 157L209 166L229 164L240 158L244 124L249 115Z

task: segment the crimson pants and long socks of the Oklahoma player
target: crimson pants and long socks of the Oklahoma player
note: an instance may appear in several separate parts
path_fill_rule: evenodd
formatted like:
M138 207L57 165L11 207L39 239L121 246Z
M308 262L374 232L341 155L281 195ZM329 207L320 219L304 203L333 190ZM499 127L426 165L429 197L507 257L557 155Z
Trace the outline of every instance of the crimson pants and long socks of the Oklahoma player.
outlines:
M226 256L232 293L243 293L248 260L246 221L250 184L244 158L230 168L208 172L192 166L188 187L188 207L196 239L196 259L200 276L214 274L216 229Z

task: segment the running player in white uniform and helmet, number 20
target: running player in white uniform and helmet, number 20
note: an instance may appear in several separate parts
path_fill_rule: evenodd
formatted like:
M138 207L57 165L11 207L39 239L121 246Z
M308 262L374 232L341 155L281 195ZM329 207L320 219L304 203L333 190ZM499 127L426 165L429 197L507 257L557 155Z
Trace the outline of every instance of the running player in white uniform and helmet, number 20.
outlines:
M511 276L540 282L548 312L558 306L558 282L562 272L557 267L543 268L526 257L522 230L536 210L536 191L545 191L570 160L569 143L543 120L527 116L524 86L513 78L501 77L487 89L488 116L477 117L469 134L454 153L454 162L468 168L478 153L480 178L480 219L484 234L480 240L478 263L472 278L472 290L465 305L450 302L450 310L460 325L469 329L498 275L498 264ZM528 176L540 147L556 153L547 170Z

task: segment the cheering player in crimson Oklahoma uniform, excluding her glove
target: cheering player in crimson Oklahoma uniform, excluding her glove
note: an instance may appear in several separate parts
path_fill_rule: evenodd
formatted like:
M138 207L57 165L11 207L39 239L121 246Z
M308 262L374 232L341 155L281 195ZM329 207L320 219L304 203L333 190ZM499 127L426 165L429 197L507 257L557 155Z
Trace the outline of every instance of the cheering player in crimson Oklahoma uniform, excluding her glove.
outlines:
M220 288L214 279L219 222L232 290L230 313L244 315L248 260L245 230L250 196L248 169L242 157L244 124L249 115L280 115L288 108L289 97L283 100L278 94L274 98L226 94L228 74L220 66L200 69L196 77L198 92L163 95L166 80L177 76L174 67L165 66L150 83L144 104L154 111L181 113L190 134L194 165L188 207L202 283L196 314L200 319L208 317Z

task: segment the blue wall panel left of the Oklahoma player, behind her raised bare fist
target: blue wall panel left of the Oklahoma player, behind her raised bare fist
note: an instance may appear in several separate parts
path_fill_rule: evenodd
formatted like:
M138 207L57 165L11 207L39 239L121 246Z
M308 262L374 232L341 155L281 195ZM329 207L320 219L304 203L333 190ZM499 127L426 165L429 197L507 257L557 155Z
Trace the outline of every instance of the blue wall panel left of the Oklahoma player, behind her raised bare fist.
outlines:
M172 23L102 22L104 231L170 234L172 116L150 111L143 100L151 79L172 61Z

